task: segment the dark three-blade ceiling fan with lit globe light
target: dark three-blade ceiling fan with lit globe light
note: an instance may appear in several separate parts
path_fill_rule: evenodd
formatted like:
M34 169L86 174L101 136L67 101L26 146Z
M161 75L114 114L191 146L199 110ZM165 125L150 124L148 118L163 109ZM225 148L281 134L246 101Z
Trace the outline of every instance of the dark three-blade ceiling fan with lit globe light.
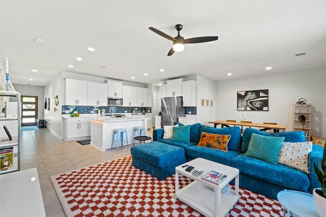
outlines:
M217 37L217 36L206 36L206 37L196 37L196 38L184 39L182 36L180 36L180 30L182 29L181 24L175 25L175 29L178 31L178 36L175 38L161 32L160 30L158 30L154 27L149 27L149 29L151 29L156 34L173 41L173 47L170 49L168 56L171 56L174 52L182 51L184 49L184 44L210 42L210 41L215 41L215 40L219 39L219 37Z

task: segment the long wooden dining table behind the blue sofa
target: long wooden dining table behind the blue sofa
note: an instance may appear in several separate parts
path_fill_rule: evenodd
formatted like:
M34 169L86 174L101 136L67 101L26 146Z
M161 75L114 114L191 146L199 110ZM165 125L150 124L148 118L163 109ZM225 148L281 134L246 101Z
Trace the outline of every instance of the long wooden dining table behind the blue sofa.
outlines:
M255 127L255 128L261 128L260 131L267 131L267 130L274 130L274 132L279 132L280 130L285 131L286 125L275 125L272 123L251 123L248 121L243 122L237 122L237 121L229 121L229 120L213 120L209 121L208 123L214 123L214 128L216 128L218 125L221 125L221 128L223 127L231 127L231 126L243 126L243 127Z

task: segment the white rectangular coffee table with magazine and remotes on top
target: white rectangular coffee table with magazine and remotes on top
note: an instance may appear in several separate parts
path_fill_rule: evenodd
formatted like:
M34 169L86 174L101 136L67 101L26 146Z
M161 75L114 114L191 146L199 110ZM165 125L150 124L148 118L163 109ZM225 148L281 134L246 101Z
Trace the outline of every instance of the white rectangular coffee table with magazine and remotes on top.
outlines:
M193 175L191 172L186 172L189 165L195 169L214 170L227 175L227 178L220 185L215 185L204 181L201 177ZM192 183L179 189L179 174L185 175L194 179ZM222 194L221 190L235 178L235 194ZM223 164L215 163L206 159L197 158L195 160L184 163L175 168L175 197L183 203L193 207L195 210L204 214L205 216L225 216L234 204L240 198L239 196L239 170Z

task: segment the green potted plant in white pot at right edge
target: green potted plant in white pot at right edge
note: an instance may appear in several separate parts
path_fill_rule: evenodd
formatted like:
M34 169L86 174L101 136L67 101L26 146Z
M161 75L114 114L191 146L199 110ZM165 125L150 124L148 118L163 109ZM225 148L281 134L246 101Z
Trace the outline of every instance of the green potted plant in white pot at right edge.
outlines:
M314 189L313 203L317 213L323 216L326 213L326 143L324 144L322 160L317 157L317 165L314 163L314 171L321 184L321 188Z

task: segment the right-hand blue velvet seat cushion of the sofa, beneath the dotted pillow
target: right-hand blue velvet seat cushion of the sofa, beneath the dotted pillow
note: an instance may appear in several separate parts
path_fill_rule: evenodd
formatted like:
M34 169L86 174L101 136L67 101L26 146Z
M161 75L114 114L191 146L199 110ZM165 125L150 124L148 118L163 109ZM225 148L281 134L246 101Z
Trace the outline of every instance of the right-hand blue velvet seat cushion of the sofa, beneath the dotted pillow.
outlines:
M259 159L238 154L231 161L231 166L240 170L240 174L246 174L266 182L275 183L286 188L308 192L309 177L304 171L297 170L282 164L270 164ZM241 175L240 175L241 177Z

